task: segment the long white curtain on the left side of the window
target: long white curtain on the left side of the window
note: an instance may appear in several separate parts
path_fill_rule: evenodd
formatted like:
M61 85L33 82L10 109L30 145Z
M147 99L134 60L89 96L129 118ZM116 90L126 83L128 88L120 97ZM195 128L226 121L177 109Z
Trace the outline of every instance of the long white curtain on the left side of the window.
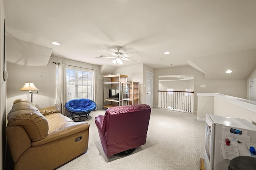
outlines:
M57 97L56 106L60 108L61 113L66 116L68 115L65 104L67 99L67 80L66 80L66 64L58 65L58 86L57 86Z

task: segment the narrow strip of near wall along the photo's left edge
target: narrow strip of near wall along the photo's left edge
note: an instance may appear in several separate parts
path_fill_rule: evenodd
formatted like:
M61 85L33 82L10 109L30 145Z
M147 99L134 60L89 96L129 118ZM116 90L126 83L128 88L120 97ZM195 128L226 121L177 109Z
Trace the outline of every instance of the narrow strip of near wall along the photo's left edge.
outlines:
M4 168L5 158L5 147L2 147L3 144L6 144L5 137L5 127L6 127L6 81L3 80L3 71L4 71L4 1L0 1L0 122L1 122L1 131L0 131L0 168ZM6 63L6 62L5 62ZM6 67L7 68L7 67Z

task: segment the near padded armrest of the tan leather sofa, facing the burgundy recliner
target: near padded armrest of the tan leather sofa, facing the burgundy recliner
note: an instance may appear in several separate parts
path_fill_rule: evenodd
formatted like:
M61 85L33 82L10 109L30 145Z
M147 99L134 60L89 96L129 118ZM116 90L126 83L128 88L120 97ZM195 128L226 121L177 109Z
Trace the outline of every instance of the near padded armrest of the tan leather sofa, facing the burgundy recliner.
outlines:
M55 131L48 133L48 135L44 139L33 142L32 146L43 145L81 131L89 130L89 127L90 125L86 122L67 122L64 127L61 127L60 129L56 129Z

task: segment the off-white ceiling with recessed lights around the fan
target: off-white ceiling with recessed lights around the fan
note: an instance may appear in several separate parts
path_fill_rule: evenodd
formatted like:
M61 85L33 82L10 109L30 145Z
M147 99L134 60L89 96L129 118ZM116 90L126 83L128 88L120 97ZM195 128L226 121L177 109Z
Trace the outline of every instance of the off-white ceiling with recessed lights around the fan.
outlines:
M247 78L256 67L256 0L4 0L4 10L9 37L58 57L112 66L190 65L206 79ZM136 62L95 58L111 56L103 49L116 46L136 51L130 57Z

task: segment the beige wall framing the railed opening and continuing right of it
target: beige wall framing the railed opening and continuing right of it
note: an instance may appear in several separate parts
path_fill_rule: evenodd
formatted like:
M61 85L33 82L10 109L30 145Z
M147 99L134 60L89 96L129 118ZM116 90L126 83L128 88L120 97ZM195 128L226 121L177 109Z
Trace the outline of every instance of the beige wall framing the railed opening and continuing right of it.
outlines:
M220 93L238 98L246 98L246 79L236 80L206 80L204 73L191 66L177 66L168 68L158 68L154 70L154 106L158 105L158 76L192 74L194 76L194 113L197 112L196 93ZM201 88L200 85L206 85Z

